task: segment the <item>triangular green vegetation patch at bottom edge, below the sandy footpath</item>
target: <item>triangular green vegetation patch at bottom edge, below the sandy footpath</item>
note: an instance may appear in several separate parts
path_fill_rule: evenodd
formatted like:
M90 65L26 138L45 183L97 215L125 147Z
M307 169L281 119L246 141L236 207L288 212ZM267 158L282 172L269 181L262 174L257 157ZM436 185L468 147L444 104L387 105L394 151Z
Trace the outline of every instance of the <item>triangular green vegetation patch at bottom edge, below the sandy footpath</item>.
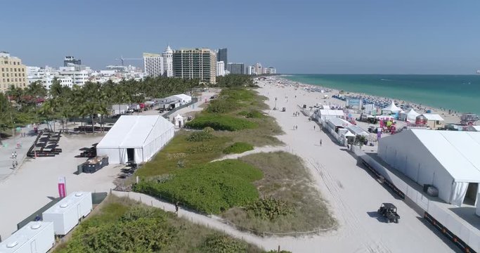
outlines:
M110 195L54 252L263 252L155 207Z

